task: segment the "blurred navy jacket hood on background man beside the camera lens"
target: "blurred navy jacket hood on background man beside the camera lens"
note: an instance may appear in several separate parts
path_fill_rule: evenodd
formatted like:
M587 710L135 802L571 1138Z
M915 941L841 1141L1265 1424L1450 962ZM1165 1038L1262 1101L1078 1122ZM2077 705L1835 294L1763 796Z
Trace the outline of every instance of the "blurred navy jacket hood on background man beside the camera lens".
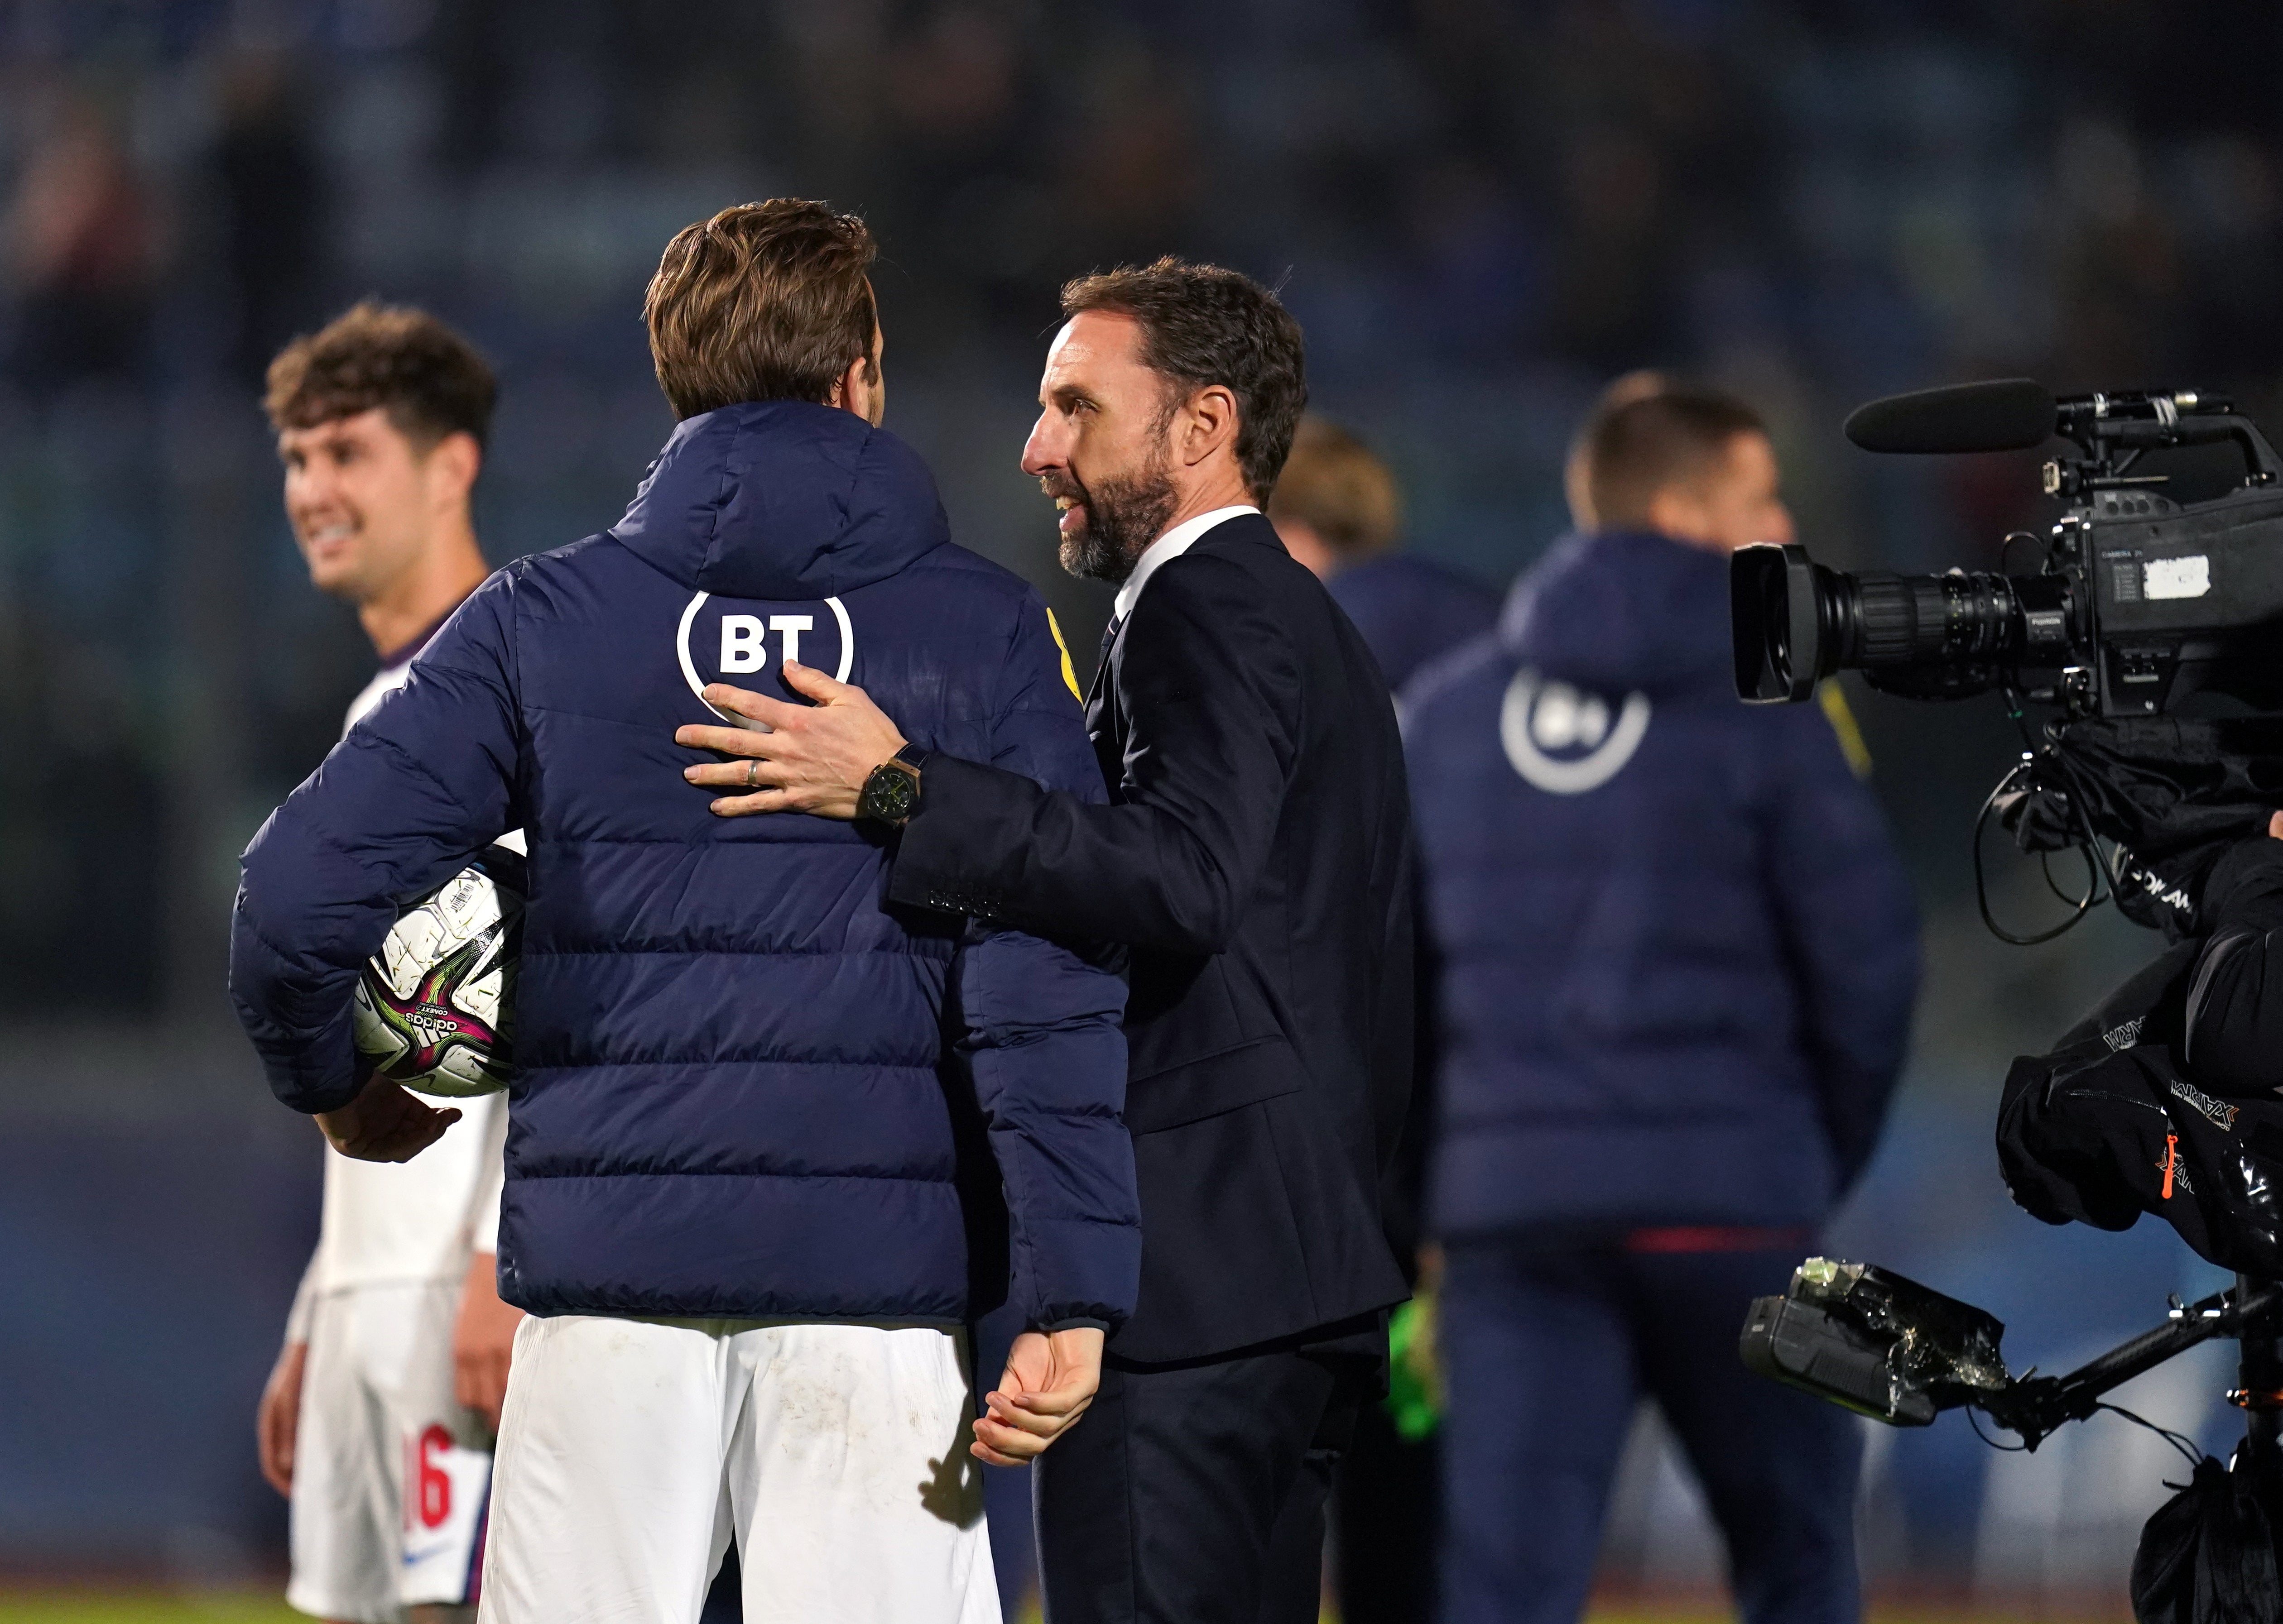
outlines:
M1641 531L1564 536L1514 582L1498 641L1600 693L1728 689L1728 559Z

